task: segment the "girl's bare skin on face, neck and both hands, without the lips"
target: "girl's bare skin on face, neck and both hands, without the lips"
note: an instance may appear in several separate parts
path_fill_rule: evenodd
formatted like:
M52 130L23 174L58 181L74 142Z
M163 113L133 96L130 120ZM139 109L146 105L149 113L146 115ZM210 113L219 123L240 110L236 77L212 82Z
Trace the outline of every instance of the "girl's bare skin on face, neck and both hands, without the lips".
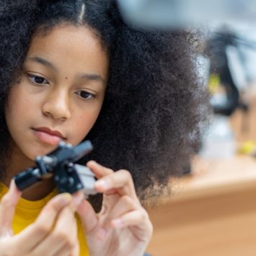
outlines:
M30 167L36 155L56 147L35 136L35 128L58 130L71 144L79 144L87 135L102 107L107 70L107 53L88 27L59 25L47 35L32 39L22 77L12 87L6 104L6 123L12 135L6 184L20 169ZM87 97L81 97L82 91ZM52 186L42 185L21 194L11 182L0 203L0 256L79 255L76 211L90 256L144 254L152 225L137 198L130 172L113 172L93 161L87 167L98 179L95 190L103 193L100 213L94 212L80 192L57 195L36 221L17 235L12 234L11 226L20 196L37 200Z

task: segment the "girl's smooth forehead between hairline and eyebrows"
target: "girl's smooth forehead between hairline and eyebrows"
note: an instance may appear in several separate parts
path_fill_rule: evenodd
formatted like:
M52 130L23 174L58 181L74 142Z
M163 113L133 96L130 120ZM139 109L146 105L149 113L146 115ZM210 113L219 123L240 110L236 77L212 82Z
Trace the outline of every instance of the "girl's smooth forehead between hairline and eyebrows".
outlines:
M63 71L92 69L107 76L108 56L89 27L58 25L46 34L32 37L27 57L43 57ZM79 69L79 70L78 70Z

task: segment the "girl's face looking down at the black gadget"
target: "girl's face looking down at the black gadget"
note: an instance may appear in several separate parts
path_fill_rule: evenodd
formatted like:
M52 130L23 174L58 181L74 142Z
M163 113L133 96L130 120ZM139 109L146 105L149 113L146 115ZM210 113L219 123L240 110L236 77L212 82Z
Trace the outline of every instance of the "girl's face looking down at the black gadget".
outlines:
M107 53L88 27L36 35L6 104L14 154L33 160L61 140L79 144L99 115L107 71Z

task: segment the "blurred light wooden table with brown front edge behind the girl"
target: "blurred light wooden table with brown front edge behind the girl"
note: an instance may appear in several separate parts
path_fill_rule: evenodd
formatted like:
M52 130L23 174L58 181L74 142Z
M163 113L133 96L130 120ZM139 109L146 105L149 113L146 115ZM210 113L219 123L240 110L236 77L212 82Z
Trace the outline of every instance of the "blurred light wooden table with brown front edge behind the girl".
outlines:
M195 159L190 176L149 209L154 256L255 256L256 160Z

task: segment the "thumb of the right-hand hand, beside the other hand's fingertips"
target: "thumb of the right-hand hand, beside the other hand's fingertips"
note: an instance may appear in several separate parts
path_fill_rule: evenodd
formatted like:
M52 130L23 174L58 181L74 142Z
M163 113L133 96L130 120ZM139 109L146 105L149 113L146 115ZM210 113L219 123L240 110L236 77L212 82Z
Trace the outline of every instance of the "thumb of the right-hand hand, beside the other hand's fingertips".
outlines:
M89 232L91 232L94 227L97 226L97 213L95 213L92 205L87 200L82 200L77 208L77 213L80 216L86 234L89 234Z

